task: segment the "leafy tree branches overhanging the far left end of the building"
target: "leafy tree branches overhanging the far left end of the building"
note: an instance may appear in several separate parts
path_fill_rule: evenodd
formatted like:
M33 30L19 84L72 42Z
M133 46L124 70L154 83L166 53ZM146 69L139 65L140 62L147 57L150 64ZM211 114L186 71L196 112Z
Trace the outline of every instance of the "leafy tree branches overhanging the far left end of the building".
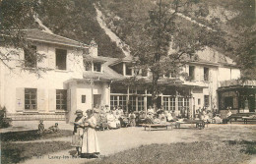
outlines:
M0 49L0 62L4 64L9 70L13 71L14 65L10 62L14 59L18 59L20 52L15 49L22 49L29 55L27 63L25 60L21 60L22 70L27 70L36 73L38 76L41 72L45 72L45 68L35 67L30 69L25 65L32 66L34 62L40 62L45 58L44 54L35 53L32 48L32 41L26 38L24 28L30 26L30 28L37 27L34 22L34 15L38 7L37 1L15 1L15 0L3 0L0 2L0 45L8 50ZM29 63L28 63L29 62Z

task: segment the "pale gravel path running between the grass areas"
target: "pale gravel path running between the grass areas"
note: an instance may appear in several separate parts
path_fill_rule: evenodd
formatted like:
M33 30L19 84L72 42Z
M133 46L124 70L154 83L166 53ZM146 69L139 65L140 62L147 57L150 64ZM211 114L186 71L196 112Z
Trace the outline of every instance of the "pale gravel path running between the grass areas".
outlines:
M110 155L126 149L152 143L174 143L192 141L222 141L222 140L256 140L256 125L210 125L204 130L189 128L173 129L169 131L144 131L143 128L124 128L97 132L102 155ZM70 141L71 137L54 138L53 140ZM40 140L40 141L49 141ZM88 159L74 159L70 155L74 149L59 151L32 158L25 163L85 163ZM53 159L55 157L55 159ZM58 159L56 159L58 157ZM255 159L255 158L254 158Z

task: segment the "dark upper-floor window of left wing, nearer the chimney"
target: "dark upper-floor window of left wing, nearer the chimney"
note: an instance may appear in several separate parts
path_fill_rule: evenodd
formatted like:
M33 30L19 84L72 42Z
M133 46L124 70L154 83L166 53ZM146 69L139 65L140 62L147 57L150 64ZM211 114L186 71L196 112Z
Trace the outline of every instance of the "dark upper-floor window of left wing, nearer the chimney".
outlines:
M56 49L56 69L66 70L67 69L67 50Z

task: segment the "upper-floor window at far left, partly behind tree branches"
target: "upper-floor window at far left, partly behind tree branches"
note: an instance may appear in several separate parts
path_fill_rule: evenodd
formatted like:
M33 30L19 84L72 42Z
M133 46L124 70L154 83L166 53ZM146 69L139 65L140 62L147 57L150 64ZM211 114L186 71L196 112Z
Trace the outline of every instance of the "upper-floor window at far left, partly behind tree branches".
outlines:
M24 50L25 67L36 67L36 46L32 45Z

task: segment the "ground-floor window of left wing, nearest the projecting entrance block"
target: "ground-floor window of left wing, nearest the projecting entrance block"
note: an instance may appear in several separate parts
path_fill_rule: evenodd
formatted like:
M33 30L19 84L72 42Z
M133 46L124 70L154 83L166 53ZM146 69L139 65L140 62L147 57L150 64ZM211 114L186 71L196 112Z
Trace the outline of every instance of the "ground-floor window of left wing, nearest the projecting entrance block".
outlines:
M67 110L67 90L56 90L56 110Z

